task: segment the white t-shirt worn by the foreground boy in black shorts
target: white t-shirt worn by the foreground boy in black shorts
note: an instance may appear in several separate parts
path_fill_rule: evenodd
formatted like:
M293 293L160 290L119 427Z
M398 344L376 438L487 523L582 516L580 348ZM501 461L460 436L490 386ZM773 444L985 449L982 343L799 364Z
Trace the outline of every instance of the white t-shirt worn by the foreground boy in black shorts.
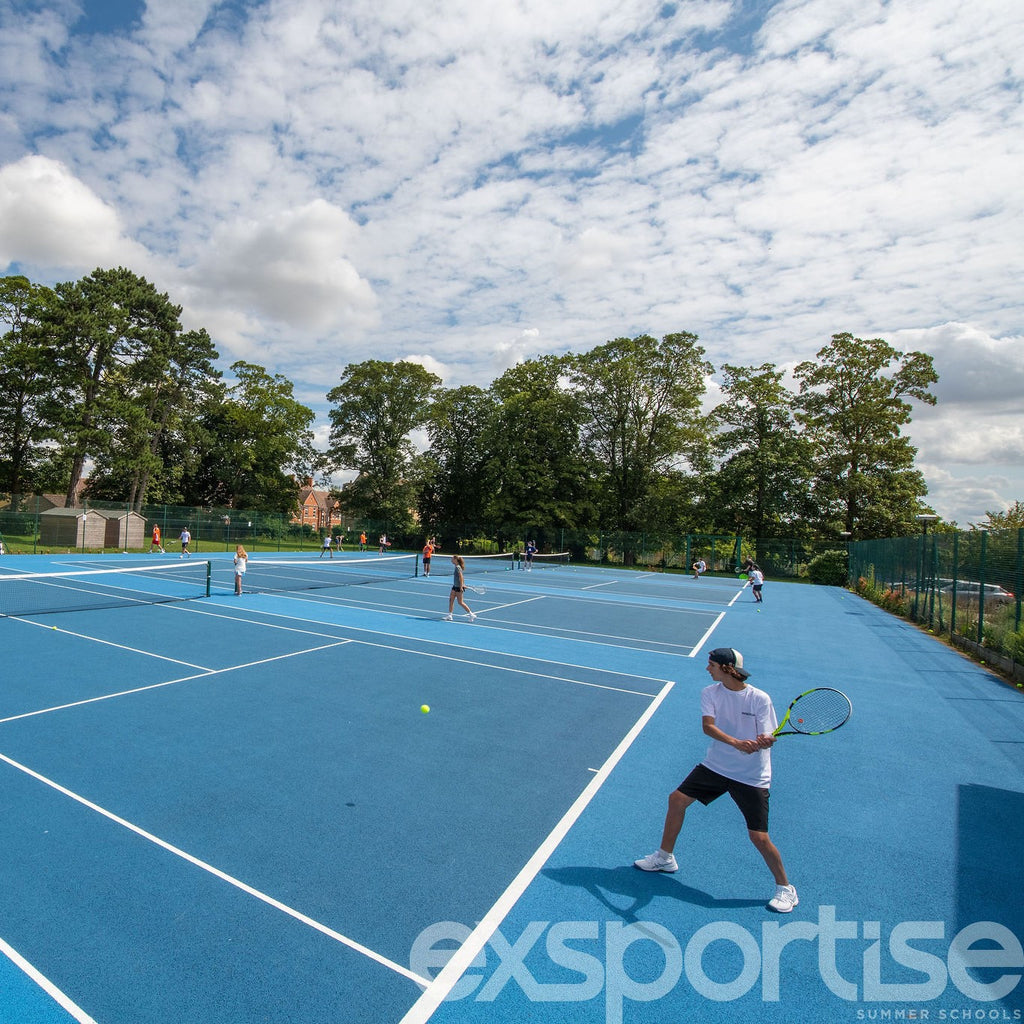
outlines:
M778 726L771 697L750 683L741 690L730 690L722 683L706 686L700 691L700 714L715 719L715 725L736 739L756 739ZM770 750L743 754L728 743L713 739L702 764L719 775L759 790L771 785Z

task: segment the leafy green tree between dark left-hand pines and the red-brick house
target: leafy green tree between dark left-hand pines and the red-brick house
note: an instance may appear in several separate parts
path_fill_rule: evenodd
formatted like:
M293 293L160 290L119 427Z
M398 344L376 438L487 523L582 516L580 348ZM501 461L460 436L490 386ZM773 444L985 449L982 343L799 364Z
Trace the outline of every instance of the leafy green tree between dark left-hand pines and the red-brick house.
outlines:
M207 407L203 458L182 482L197 505L294 512L296 474L314 460L313 411L293 394L292 382L251 362L231 365L234 383Z

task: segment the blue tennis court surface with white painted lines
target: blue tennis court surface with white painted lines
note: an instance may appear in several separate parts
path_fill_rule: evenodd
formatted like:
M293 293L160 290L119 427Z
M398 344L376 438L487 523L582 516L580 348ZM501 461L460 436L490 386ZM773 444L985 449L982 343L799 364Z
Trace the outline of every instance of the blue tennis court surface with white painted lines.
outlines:
M176 558L5 557L0 592ZM927 633L571 566L444 622L445 557L267 594L257 554L238 597L212 559L209 597L0 616L0 1024L1021 1019L1024 691ZM728 797L633 866L720 646L780 719L853 702L772 751L790 914Z

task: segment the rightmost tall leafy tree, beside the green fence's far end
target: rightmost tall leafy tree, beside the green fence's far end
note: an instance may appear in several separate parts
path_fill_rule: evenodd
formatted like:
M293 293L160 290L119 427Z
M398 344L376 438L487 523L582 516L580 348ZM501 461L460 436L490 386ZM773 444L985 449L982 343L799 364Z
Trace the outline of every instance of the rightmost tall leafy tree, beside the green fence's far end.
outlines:
M797 420L815 445L818 524L857 537L912 531L928 488L901 428L908 398L935 404L932 357L897 351L881 338L833 335L814 360L801 362Z

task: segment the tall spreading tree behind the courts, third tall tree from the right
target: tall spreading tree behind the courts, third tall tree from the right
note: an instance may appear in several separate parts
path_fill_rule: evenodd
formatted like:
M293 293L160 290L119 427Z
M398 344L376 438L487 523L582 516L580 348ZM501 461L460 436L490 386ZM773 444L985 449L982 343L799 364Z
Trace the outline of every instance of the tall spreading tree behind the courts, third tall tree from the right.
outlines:
M698 461L712 366L696 335L616 338L571 364L585 411L584 438L605 496L605 525L639 529L658 474Z

